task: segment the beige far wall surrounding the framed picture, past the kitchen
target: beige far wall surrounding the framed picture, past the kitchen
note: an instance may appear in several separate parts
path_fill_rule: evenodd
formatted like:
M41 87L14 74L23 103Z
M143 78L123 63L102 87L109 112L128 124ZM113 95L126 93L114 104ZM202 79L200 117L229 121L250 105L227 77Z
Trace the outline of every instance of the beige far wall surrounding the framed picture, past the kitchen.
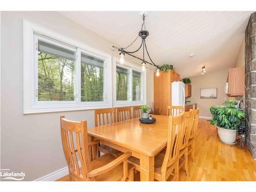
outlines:
M224 92L227 75L228 69L222 69L212 73L206 72L200 77L191 79L192 96L187 100L197 103L197 107L200 109L200 116L211 117L210 106L221 105L226 101L225 98L228 99ZM217 88L217 99L201 99L201 88Z

